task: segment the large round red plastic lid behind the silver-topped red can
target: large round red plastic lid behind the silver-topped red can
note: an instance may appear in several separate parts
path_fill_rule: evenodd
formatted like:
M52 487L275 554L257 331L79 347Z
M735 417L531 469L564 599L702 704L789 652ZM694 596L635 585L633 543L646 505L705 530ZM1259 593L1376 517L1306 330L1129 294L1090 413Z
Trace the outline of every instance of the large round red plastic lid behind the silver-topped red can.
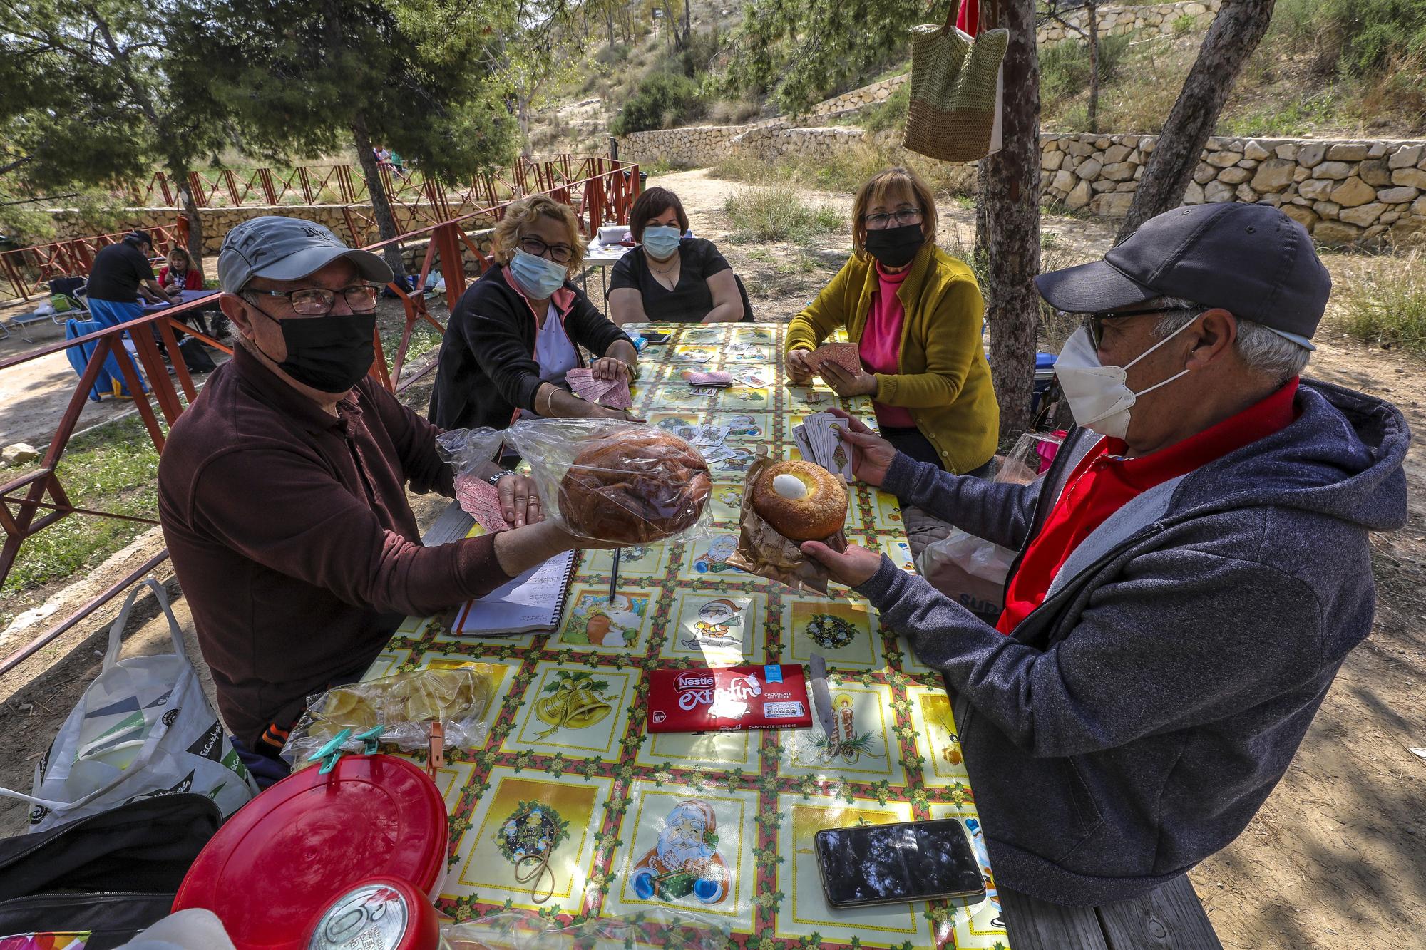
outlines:
M431 894L446 836L445 802L425 772L395 756L342 756L331 773L302 769L228 819L174 910L207 907L240 950L297 950L318 914L369 877Z

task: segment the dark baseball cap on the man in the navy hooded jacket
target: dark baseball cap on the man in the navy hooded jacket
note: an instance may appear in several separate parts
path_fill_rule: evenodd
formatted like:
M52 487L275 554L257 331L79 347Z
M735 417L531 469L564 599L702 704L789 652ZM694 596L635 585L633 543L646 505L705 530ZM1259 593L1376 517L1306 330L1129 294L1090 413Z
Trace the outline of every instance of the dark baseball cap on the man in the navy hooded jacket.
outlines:
M1104 255L1035 278L1051 307L1089 314L1178 297L1222 307L1315 349L1332 294L1306 230L1266 204L1199 204L1149 218Z

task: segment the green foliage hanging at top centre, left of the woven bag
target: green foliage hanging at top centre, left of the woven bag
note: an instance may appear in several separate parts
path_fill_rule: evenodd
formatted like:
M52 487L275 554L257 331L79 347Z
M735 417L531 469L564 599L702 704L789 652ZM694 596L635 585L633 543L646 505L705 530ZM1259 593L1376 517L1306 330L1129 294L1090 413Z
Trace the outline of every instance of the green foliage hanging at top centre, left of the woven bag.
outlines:
M948 0L744 0L729 86L796 111L906 58L907 30L944 23Z

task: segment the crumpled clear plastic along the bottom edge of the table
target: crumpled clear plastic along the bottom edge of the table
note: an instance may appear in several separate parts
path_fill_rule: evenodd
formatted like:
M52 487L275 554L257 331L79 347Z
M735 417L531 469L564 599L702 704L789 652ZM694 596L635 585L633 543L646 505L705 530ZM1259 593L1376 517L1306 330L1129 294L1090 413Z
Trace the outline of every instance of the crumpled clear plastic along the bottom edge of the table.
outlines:
M448 950L726 950L729 927L702 914L649 907L637 917L595 917L560 926L558 920L506 910L442 924Z

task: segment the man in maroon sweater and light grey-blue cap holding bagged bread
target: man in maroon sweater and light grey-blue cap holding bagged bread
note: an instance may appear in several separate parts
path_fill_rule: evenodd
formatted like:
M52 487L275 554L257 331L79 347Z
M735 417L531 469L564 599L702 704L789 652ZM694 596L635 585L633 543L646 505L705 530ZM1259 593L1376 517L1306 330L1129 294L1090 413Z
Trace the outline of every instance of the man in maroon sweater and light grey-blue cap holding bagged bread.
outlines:
M262 217L218 254L238 347L173 427L164 538L218 708L262 780L307 698L359 679L405 615L482 596L569 551L529 479L488 476L512 531L424 548L406 502L453 494L439 429L366 374L386 264L319 224Z

